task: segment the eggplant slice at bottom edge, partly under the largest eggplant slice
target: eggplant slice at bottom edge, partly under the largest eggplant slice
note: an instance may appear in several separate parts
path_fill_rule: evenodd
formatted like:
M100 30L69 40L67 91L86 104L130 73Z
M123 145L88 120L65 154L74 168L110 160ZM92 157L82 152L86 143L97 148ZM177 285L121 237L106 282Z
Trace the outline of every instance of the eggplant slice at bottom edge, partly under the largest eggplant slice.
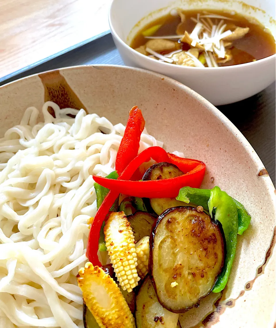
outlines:
M151 279L147 276L136 296L137 328L177 328L178 314L172 313L159 303Z

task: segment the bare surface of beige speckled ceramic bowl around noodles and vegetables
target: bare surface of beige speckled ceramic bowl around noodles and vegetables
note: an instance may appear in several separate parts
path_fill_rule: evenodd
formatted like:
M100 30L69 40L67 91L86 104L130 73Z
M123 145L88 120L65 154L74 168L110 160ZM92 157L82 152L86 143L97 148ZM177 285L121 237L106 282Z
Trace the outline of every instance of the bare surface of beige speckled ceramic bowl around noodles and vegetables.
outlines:
M85 108L126 123L138 105L149 133L168 151L206 163L202 187L218 185L252 215L223 293L211 293L180 316L187 327L272 328L275 321L275 189L244 136L196 92L162 75L116 66L74 67L33 75L0 88L0 133L45 101ZM264 171L262 171L264 172ZM214 177L213 183L211 177ZM273 237L274 234L274 237Z

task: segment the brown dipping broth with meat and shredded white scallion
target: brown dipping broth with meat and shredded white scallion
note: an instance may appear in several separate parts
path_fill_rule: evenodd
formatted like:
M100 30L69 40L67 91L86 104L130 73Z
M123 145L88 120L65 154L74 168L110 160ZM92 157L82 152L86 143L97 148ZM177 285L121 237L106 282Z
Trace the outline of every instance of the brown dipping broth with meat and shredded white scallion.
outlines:
M214 40L222 33L226 37ZM208 37L213 44L204 44ZM222 10L172 10L140 30L130 46L157 60L197 67L244 64L275 54L275 39L261 23Z

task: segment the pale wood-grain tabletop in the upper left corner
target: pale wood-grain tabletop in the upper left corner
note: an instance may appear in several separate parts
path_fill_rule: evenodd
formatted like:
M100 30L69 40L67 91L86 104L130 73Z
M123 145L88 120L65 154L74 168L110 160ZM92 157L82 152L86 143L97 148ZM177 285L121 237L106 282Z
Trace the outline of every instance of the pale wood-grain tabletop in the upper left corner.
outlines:
M111 0L1 0L0 81L109 30Z

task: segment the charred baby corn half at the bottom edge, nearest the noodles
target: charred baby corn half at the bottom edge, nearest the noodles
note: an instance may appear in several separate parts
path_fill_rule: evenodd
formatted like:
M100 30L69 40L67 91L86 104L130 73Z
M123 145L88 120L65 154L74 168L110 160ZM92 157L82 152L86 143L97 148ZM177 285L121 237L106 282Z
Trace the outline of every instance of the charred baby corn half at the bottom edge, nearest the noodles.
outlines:
M98 266L87 262L79 270L83 299L100 328L134 328L134 318L117 283Z

